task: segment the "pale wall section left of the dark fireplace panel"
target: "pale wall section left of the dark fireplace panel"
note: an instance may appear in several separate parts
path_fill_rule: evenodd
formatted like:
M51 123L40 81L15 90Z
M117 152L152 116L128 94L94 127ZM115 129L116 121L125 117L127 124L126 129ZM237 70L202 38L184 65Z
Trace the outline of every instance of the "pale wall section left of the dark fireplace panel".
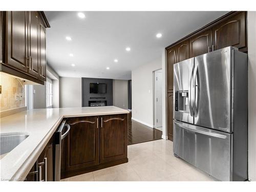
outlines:
M82 106L82 80L74 77L59 78L59 107Z

